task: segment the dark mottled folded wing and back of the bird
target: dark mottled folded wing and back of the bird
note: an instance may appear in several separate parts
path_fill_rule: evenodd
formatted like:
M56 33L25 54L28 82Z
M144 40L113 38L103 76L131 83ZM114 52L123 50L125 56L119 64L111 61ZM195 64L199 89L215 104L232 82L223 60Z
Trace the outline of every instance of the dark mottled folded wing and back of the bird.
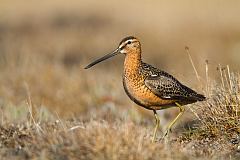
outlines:
M205 99L203 95L181 84L172 75L142 62L142 73L145 74L145 85L162 99L195 102Z

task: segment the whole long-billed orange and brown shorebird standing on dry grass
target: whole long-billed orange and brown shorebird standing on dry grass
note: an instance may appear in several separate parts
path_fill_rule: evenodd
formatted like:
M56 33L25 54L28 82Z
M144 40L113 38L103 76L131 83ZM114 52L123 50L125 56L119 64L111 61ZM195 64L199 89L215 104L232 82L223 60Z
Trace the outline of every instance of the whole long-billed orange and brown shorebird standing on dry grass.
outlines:
M93 61L85 67L95 64L118 54L124 54L123 86L129 98L139 106L152 110L156 119L152 141L156 140L160 119L156 110L178 107L179 114L168 125L163 138L171 131L172 126L182 116L183 105L205 100L205 96L180 83L172 75L142 62L140 41L129 36L124 38L113 52Z

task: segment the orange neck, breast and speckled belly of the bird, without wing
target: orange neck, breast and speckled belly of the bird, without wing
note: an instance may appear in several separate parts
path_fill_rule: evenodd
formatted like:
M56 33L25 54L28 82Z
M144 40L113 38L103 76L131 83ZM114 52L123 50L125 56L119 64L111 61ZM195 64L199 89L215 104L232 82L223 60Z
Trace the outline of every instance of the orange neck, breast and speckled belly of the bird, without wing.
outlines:
M174 106L173 100L164 100L145 85L145 74L141 72L141 59L137 53L127 54L124 62L123 84L127 95L147 109L160 110L166 105ZM165 106L165 107L164 107Z

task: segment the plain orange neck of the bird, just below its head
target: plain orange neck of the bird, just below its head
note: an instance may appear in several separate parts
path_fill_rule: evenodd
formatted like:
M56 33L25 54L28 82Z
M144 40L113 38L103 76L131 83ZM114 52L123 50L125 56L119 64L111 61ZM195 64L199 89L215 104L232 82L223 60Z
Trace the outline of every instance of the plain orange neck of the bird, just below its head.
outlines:
M124 61L124 75L133 76L139 74L139 69L141 66L141 52L132 52L126 54Z

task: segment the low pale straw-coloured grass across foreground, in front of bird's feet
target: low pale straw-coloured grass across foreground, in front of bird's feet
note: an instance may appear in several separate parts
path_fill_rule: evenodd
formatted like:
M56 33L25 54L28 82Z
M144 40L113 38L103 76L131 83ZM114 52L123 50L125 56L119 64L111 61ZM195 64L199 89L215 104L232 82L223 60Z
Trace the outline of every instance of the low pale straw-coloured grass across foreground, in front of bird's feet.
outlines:
M1 128L2 157L6 159L183 159L187 156L163 144L150 142L148 131L131 122L76 120L34 126L6 125ZM69 130L72 126L78 128ZM180 153L180 154L179 154Z

